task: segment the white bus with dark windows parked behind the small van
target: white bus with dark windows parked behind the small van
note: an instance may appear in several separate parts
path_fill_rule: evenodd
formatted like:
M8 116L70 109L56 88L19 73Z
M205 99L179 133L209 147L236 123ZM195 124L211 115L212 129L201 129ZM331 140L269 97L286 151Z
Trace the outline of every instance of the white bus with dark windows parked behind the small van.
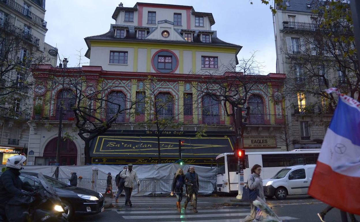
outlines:
M300 164L316 164L320 149L297 149L285 152L245 153L244 182L247 182L251 167L262 166L263 179L273 177L280 169ZM234 153L222 153L216 157L216 187L219 192L238 192L238 160Z

